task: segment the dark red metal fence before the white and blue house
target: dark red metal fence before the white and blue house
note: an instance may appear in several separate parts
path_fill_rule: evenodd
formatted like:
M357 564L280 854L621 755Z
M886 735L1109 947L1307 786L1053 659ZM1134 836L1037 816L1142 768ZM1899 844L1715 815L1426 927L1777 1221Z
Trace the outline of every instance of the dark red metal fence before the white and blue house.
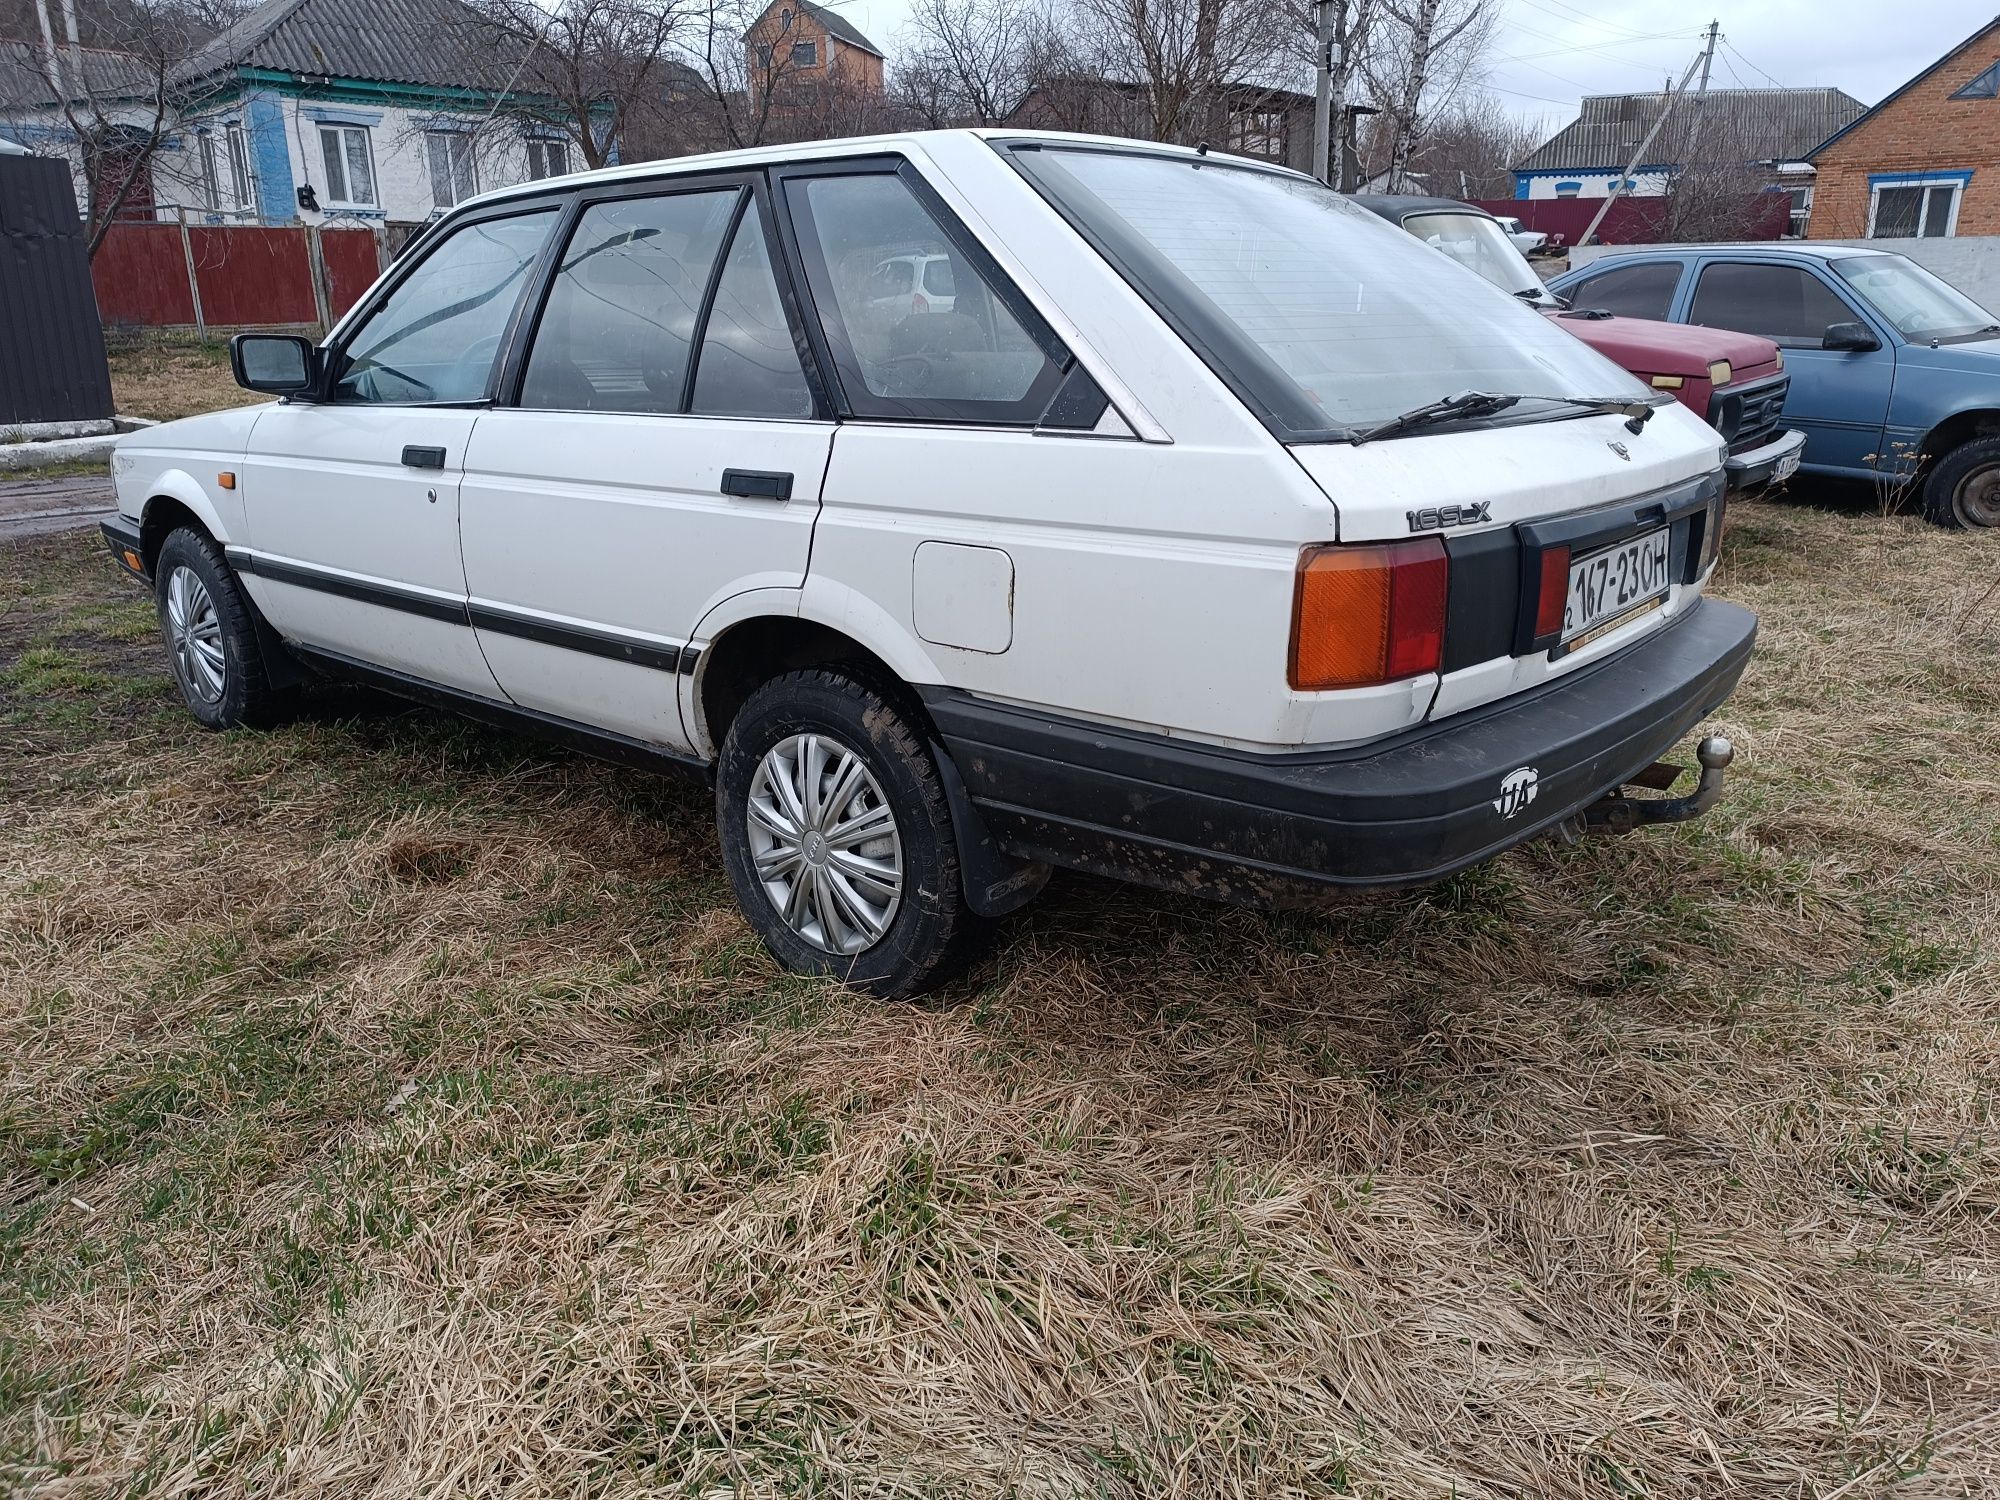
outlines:
M330 326L388 264L380 228L314 224L112 224L90 262L106 326Z

